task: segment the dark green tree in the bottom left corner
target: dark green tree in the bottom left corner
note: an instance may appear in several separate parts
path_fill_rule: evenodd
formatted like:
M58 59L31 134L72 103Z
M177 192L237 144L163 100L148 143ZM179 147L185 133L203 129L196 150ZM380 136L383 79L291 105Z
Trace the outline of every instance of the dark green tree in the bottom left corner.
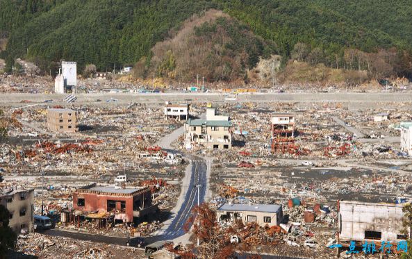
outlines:
M14 249L17 242L17 234L8 226L10 212L0 205L0 259L6 259L8 249Z

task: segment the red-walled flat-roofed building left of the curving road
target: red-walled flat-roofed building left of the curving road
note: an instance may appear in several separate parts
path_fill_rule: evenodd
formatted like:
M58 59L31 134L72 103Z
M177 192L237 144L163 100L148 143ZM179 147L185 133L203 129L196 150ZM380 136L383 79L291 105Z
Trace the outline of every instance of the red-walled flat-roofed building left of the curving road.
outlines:
M83 212L108 212L115 219L131 223L156 212L157 205L151 203L147 187L122 188L93 183L74 192L73 208Z

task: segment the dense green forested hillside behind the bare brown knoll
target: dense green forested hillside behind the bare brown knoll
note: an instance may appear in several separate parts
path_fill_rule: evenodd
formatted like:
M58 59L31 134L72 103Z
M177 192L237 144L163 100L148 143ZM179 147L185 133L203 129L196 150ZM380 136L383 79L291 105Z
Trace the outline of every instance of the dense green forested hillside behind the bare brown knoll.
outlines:
M62 58L98 69L133 65L211 8L274 42L283 65L293 58L412 76L412 1L0 0L0 36L8 38L0 58L36 60L42 69Z

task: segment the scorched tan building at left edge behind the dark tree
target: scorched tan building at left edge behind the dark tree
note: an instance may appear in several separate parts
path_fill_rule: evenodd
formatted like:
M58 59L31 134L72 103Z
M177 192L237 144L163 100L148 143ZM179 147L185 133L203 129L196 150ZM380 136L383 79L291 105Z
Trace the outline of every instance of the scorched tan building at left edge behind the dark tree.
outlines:
M0 192L0 204L10 212L8 226L20 233L22 229L31 232L33 229L33 197L34 190L7 190Z

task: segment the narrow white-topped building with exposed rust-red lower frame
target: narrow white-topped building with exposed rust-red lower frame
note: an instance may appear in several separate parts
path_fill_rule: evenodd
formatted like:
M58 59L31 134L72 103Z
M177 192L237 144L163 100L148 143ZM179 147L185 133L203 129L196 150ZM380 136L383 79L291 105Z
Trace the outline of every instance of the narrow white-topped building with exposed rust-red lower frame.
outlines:
M295 116L292 113L275 113L270 122L272 153L284 153L295 140Z

